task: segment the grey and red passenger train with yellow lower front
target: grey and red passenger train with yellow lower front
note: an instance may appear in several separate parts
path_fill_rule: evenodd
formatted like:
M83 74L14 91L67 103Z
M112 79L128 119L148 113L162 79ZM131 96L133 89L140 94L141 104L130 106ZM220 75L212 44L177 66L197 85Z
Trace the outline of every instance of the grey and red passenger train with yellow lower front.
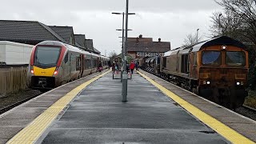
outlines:
M30 56L30 87L48 90L74 81L107 67L109 58L57 41L44 41L34 46Z

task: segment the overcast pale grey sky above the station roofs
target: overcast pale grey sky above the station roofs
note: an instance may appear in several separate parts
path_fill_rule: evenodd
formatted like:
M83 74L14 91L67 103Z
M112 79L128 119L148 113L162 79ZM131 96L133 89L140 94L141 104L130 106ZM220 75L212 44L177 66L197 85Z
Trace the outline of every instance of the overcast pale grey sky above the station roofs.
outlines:
M153 38L182 46L187 34L210 35L210 16L222 10L214 0L130 0L128 37ZM73 26L75 34L94 39L94 47L108 55L120 52L122 15L126 0L8 0L1 2L0 19L39 21L50 26Z

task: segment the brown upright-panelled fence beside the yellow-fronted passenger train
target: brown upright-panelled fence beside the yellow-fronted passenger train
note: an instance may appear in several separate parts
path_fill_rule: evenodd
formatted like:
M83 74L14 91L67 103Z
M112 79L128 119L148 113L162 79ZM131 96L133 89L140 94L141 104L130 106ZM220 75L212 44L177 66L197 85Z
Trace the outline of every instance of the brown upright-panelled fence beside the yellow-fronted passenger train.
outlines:
M27 86L27 66L0 66L0 98L8 93L25 90Z

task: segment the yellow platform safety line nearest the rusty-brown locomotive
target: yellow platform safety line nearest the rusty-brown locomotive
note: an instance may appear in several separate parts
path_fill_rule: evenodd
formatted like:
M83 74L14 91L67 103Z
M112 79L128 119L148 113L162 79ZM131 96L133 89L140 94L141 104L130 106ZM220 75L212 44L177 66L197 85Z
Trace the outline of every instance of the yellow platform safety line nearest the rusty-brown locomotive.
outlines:
M186 109L190 114L193 114L200 121L205 123L207 126L210 126L211 129L215 130L218 134L221 134L224 138L229 140L232 143L254 143L250 139L244 137L242 134L238 134L235 130L231 129L229 126L226 126L222 122L219 122L217 119L211 117L209 114L204 113L202 110L199 110L197 107L191 105L189 102L186 102L178 95L172 93L170 90L167 90L165 87L161 86L154 80L148 78L145 74L137 71L138 74L142 75L143 78L146 78L154 86L156 86L162 93L166 94L168 97L177 102L180 106Z

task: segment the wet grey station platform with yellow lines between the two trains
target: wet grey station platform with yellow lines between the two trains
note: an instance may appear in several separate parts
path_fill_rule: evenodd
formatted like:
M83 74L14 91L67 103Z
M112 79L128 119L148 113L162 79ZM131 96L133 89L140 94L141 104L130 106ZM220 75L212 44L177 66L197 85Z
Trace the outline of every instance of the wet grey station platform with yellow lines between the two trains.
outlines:
M256 122L146 72L110 71L0 115L0 143L254 143ZM2 132L4 130L4 132Z

